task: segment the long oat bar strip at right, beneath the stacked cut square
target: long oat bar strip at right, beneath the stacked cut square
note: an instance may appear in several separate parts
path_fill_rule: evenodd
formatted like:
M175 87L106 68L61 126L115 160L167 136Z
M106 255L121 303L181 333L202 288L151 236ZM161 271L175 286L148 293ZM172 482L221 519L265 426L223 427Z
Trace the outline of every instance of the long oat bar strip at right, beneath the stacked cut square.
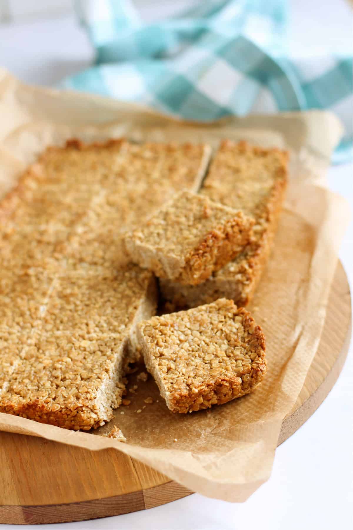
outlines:
M241 209L255 220L252 238L234 260L203 284L179 285L160 280L162 296L176 307L196 307L217 298L232 298L247 305L266 266L276 233L287 185L288 154L245 142L224 141L211 163L202 195Z

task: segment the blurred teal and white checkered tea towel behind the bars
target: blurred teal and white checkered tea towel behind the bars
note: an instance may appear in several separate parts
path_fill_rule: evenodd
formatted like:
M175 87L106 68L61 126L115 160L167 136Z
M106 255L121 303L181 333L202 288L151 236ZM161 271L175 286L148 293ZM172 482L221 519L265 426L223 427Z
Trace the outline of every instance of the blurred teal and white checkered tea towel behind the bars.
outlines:
M144 23L129 0L77 0L95 66L60 86L141 102L188 120L330 109L352 147L352 57L289 58L285 0L208 0Z

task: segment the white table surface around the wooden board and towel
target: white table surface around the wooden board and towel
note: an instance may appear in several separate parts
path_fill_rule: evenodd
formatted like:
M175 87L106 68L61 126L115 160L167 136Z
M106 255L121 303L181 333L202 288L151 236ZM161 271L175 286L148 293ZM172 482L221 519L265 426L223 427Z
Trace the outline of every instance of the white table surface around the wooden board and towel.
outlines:
M141 4L141 2L139 2ZM157 5L157 2L154 2ZM185 2L183 2L185 4ZM151 14L149 13L150 17ZM329 38L328 38L329 35ZM351 42L349 2L293 0L289 31L295 53L320 46L347 48ZM14 25L0 25L0 66L22 80L50 85L86 67L92 48L74 16ZM352 166L333 166L329 185L353 206ZM352 285L353 224L341 245L340 258ZM328 398L313 416L276 451L273 472L243 504L230 504L193 494L165 506L105 519L50 528L131 528L156 530L243 529L297 530L353 526L353 358ZM0 485L1 487L1 485ZM14 530L17 525L1 525Z

